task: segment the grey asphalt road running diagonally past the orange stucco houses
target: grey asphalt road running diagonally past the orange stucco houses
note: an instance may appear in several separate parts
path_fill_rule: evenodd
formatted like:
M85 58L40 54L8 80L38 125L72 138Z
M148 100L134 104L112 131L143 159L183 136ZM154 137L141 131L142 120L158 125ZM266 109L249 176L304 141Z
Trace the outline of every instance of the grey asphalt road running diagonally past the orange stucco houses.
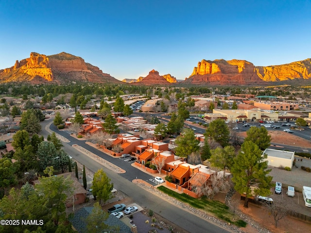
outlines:
M44 130L45 125L47 125L51 120L42 122L42 135L47 136L48 133ZM208 222L206 219L203 219L199 216L193 215L190 212L186 211L185 209L182 209L178 206L173 205L172 203L166 201L165 199L159 198L156 195L144 190L143 188L139 187L138 185L135 185L131 182L131 179L136 179L136 175L134 175L132 172L127 172L123 175L119 175L98 162L89 159L87 156L81 154L79 151L74 149L71 145L72 144L79 144L86 149L89 149L91 152L96 152L95 154L101 154L100 151L96 150L95 148L88 146L83 141L76 140L75 138L72 138L69 136L68 133L58 131L54 126L51 125L51 129L55 130L57 133L60 133L63 136L66 136L70 143L63 143L64 144L64 150L73 157L76 161L79 161L80 163L84 164L89 170L92 172L96 172L98 169L103 168L104 172L107 174L107 176L111 179L111 181L114 183L114 187L117 190L122 191L127 196L131 197L138 205L140 206L146 206L148 209L153 210L155 213L165 217L169 221L173 222L174 224L180 226L181 228L189 231L190 233L228 233L230 231L225 230L217 225L214 225L212 222ZM94 153L93 152L93 153ZM104 153L102 153L104 154ZM104 156L101 154L101 157ZM104 159L113 160L113 162L118 165L120 164L120 167L122 167L124 170L127 168L130 168L128 163L121 161L119 159L111 158L110 156L104 156ZM124 165L124 166L123 166ZM128 166L128 167L127 167ZM135 168L134 168L135 169ZM138 169L136 172L138 172ZM141 171L140 171L141 172ZM141 172L142 173L142 172ZM135 173L136 174L136 173ZM141 177L139 175L139 179L148 180L149 175L142 173Z

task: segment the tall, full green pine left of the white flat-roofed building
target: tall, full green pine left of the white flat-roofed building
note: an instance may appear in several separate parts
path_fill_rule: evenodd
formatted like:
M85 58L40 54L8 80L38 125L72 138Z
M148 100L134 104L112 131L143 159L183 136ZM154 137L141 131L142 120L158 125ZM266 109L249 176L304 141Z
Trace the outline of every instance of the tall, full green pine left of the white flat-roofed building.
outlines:
M271 176L267 174L271 170L267 170L268 161L263 161L267 155L262 156L262 152L258 145L248 141L241 146L241 151L235 157L231 167L232 181L234 189L240 194L245 194L244 207L248 208L248 199L252 196L251 187L257 186L256 195L266 196L270 194Z

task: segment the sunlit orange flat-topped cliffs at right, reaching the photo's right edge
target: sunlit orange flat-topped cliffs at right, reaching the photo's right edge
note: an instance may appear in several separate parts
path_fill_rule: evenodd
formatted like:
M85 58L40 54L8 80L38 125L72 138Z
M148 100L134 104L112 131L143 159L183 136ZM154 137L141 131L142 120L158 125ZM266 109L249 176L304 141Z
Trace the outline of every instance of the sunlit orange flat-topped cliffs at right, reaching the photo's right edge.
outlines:
M244 60L202 60L183 83L209 85L262 85L289 79L311 78L311 59L285 65L255 67Z

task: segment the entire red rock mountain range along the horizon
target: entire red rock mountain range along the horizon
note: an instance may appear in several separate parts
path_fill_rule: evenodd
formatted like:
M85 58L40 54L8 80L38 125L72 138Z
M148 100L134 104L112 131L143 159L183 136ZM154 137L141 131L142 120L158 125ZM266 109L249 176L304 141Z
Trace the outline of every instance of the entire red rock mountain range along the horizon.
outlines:
M311 79L311 59L296 61L290 64L256 67L245 60L202 60L194 67L193 72L185 81L177 82L171 74L159 75L152 70L146 77L138 79L123 79L130 85L271 85L271 82L286 83L289 81L301 83ZM179 80L178 80L179 81ZM43 55L31 53L29 58L16 61L11 68L0 70L0 83L30 82L38 83L70 83L122 82L102 72L98 67L86 63L84 59L67 53Z

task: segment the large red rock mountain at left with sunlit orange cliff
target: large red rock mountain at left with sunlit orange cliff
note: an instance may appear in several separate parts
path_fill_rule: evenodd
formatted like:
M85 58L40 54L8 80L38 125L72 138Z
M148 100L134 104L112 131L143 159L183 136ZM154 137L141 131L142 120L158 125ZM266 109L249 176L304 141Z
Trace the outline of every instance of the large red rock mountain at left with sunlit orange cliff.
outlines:
M67 53L43 55L31 53L29 58L0 71L0 83L7 82L68 83L98 82L121 83L84 59Z

